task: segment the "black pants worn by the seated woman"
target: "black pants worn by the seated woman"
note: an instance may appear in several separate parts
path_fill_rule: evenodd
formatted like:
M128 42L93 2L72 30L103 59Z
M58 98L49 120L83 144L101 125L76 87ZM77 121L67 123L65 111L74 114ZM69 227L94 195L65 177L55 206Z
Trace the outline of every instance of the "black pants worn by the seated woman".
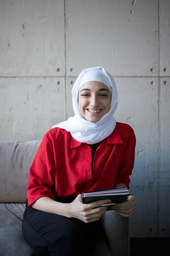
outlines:
M71 202L59 200L61 202ZM35 252L31 255L77 256L87 251L102 237L106 240L101 221L85 223L76 218L47 213L28 207L23 214L23 236ZM107 241L106 241L107 242Z

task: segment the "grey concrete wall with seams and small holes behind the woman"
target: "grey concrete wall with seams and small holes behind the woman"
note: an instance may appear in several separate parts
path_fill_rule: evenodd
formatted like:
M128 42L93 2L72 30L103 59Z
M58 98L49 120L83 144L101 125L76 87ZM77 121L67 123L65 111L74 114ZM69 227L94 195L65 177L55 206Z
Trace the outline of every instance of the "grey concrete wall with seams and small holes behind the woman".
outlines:
M74 115L83 68L115 77L136 135L131 237L170 237L170 1L1 0L0 140L39 140Z

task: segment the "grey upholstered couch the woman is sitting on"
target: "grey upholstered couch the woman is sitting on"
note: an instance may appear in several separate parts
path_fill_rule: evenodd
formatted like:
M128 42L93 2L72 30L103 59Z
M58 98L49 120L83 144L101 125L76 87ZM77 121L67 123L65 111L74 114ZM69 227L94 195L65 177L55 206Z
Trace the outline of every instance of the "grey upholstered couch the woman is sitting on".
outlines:
M29 256L34 249L24 240L22 218L29 169L41 141L0 141L0 255ZM109 240L89 252L96 256L129 256L129 218L107 211L102 223Z

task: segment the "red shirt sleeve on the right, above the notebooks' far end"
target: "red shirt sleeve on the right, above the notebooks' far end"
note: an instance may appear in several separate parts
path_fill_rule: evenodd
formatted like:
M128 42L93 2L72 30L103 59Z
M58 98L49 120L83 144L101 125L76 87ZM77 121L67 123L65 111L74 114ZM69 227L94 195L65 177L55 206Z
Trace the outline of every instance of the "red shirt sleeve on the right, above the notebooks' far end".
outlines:
M129 183L130 183L129 175L132 174L132 170L134 168L135 145L136 145L135 133L134 133L134 130L131 128L131 132L129 133L129 136L126 142L123 161L116 175L115 184L123 183L127 187L129 187Z

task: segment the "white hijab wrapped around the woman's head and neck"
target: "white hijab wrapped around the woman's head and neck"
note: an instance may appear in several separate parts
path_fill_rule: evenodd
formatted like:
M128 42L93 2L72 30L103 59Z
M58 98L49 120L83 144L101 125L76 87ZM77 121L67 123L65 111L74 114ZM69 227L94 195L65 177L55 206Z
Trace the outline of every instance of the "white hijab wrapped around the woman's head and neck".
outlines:
M90 81L98 81L104 83L112 94L110 110L97 123L91 123L83 117L78 109L78 91L80 87ZM73 110L75 116L70 117L52 128L59 127L69 131L72 137L87 144L95 144L108 137L116 126L116 120L113 114L117 108L118 94L116 84L113 77L104 69L104 67L86 68L79 74L73 89Z

